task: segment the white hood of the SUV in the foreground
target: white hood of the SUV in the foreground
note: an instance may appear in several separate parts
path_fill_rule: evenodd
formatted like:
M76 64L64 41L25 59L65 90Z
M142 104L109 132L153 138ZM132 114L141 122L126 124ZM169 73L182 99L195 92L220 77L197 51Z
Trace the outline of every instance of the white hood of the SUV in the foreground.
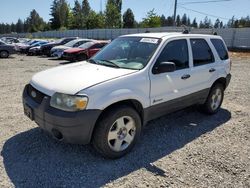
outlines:
M49 96L52 96L55 92L74 95L93 85L137 71L116 69L83 61L37 73L30 83Z

